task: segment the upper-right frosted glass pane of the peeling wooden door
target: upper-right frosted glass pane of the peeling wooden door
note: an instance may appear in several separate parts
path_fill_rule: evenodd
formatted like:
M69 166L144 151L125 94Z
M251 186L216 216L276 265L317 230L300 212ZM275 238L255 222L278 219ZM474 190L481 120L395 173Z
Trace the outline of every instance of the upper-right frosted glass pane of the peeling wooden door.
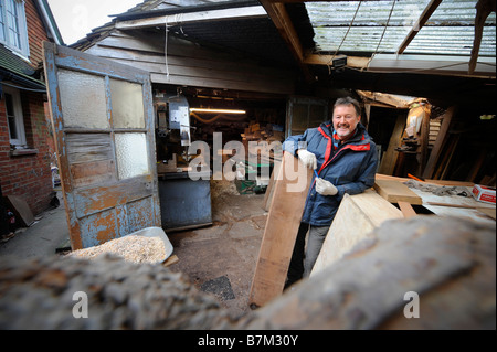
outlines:
M145 128L140 84L110 79L110 97L115 128Z

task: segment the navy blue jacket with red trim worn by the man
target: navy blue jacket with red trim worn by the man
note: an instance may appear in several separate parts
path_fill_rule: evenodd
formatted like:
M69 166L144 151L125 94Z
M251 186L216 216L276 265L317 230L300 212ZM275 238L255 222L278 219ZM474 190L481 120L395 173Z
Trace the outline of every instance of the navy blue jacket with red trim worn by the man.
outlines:
M355 136L338 148L334 145L330 122L307 129L304 135L290 136L283 143L283 150L295 157L298 149L315 153L319 178L331 182L338 189L337 195L321 195L316 192L313 177L302 218L304 223L315 226L331 225L343 194L359 194L374 184L377 147L361 124L358 124Z

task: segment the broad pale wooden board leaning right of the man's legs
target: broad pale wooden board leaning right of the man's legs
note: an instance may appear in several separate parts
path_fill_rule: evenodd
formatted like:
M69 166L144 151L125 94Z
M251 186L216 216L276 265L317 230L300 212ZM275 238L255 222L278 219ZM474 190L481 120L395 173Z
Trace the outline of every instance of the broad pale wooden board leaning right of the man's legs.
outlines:
M343 196L310 276L334 264L384 221L403 214L373 190Z

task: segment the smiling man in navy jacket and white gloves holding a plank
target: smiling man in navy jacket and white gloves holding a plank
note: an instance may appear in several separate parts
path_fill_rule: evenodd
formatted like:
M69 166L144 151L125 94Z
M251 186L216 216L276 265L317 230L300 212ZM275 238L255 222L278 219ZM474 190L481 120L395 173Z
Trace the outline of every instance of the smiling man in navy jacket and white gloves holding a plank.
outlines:
M309 188L285 287L310 275L343 194L362 193L374 184L377 148L360 120L359 103L339 98L331 122L290 136L283 143L285 151L318 175L313 177Z

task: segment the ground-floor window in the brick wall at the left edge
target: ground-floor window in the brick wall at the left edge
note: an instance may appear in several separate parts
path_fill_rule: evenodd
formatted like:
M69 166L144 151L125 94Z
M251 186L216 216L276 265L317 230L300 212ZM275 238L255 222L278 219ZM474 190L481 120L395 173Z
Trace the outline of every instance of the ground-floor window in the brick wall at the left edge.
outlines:
M25 147L24 117L22 115L21 94L19 89L3 86L3 102L6 104L7 124L10 143L18 148Z

